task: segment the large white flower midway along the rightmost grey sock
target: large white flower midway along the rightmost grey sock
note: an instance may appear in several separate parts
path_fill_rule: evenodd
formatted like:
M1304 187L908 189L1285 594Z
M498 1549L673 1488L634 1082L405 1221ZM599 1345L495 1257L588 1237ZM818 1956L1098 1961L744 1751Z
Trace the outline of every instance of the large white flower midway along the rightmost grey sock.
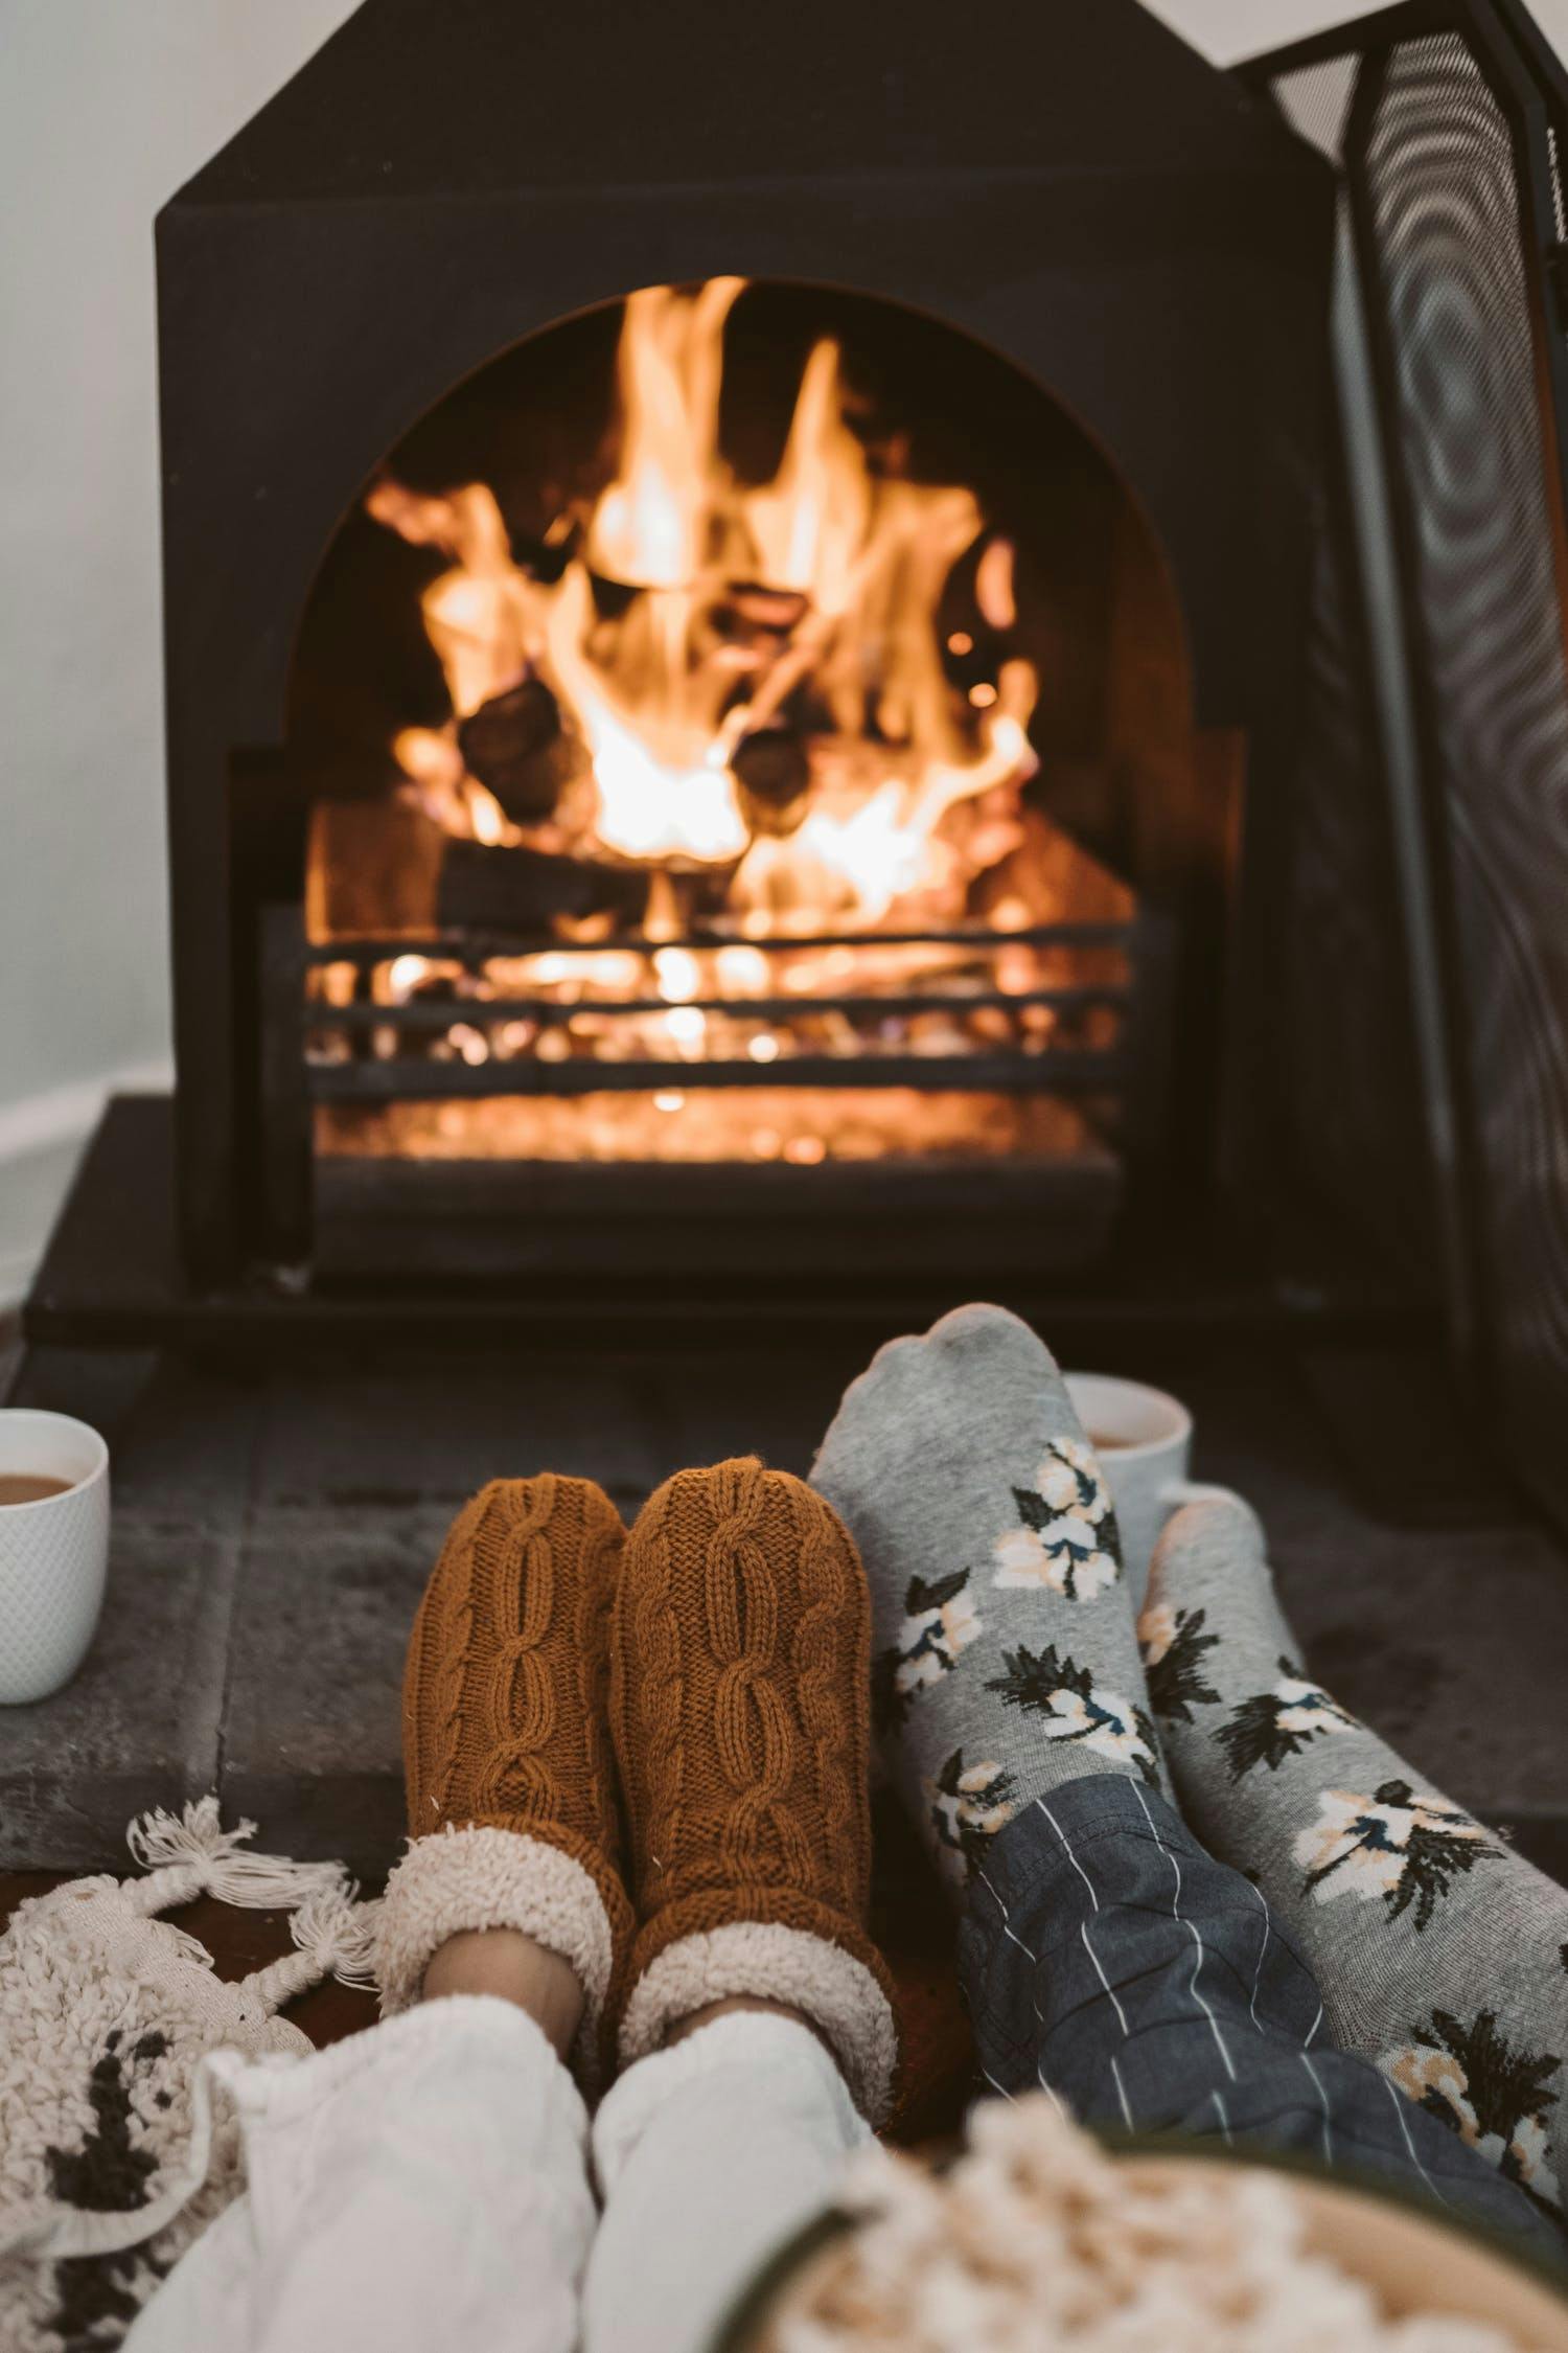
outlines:
M1324 1788L1316 1809L1293 1847L1305 1871L1302 1894L1319 1904L1380 1897L1389 1920L1415 1906L1418 1932L1462 1871L1497 1859L1479 1821L1448 1798L1415 1793L1408 1781L1385 1781L1371 1798Z

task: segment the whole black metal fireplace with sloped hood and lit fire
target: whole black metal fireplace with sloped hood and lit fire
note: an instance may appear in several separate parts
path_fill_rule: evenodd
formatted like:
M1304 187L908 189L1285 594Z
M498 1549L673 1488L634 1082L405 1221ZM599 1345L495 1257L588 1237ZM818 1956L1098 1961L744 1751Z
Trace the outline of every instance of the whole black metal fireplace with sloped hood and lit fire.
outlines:
M188 1282L1204 1214L1331 245L1128 0L367 0L158 224Z

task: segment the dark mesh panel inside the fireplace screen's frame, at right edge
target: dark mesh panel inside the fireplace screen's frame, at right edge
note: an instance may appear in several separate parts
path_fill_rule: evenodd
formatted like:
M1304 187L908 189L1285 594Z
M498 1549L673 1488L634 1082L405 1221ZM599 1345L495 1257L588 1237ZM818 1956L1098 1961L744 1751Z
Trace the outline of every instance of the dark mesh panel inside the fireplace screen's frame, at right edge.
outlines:
M1460 33L1399 42L1361 219L1448 861L1479 1301L1514 1426L1568 1405L1568 692L1561 494L1516 134Z

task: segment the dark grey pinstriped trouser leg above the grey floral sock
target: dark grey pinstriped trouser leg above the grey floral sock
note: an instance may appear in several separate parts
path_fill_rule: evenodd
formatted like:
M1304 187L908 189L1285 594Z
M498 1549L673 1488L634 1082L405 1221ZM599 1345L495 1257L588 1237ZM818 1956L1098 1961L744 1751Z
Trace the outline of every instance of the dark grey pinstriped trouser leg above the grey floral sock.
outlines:
M1044 2087L1086 2125L1394 2177L1563 2261L1514 2181L1371 2059L1328 2045L1312 1969L1262 1894L1140 1781L1070 1781L990 1840L959 1979L992 2092Z

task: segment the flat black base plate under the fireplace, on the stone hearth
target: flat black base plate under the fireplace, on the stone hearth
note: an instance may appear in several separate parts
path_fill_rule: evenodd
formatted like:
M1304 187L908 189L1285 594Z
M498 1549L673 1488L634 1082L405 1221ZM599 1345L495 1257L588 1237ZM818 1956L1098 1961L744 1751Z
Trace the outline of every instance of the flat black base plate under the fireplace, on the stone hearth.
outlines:
M517 1179L517 1169L503 1174ZM614 1181L621 1212L623 1188L637 1172L531 1172L534 1181L552 1176L574 1186L595 1174ZM679 1176L682 1184L722 1176L703 1169L651 1174ZM748 1172L748 1198L752 1174L820 1179L823 1169ZM853 1169L844 1174L856 1176ZM599 1348L644 1346L649 1329L672 1346L729 1334L762 1348L773 1337L795 1334L799 1341L802 1332L856 1334L875 1344L919 1329L964 1297L985 1294L1039 1322L1058 1353L1079 1362L1103 1362L1112 1348L1206 1332L1387 1344L1434 1332L1429 1306L1413 1304L1380 1266L1356 1259L1342 1235L1324 1245L1305 1217L1300 1228L1274 1228L1274 1247L1262 1257L1239 1245L1234 1221L1201 1224L1171 1200L1133 1205L1117 1228L1114 1254L1063 1271L1060 1254L1053 1257L1053 1209L1039 1191L1039 1172L1030 1179L1030 1202L1016 1202L1006 1219L976 1219L969 1200L964 1221L943 1214L940 1172L917 1174L931 1191L919 1235L912 1221L905 1233L919 1238L924 1257L907 1242L896 1247L891 1231L877 1233L867 1214L844 1226L835 1266L823 1257L816 1224L797 1228L811 1238L811 1257L804 1240L788 1257L778 1226L759 1224L755 1212L731 1221L722 1235L710 1200L689 1212L684 1228L651 1205L658 1209L661 1257L646 1249L635 1261L625 1249L614 1254L611 1219L583 1219L571 1238L552 1212L541 1219L550 1249L541 1247L531 1266L496 1273L484 1259L480 1273L461 1266L465 1245L458 1228L461 1217L473 1214L470 1198L465 1207L454 1202L449 1221L423 1221L425 1238L447 1226L451 1264L404 1264L395 1278L386 1266L395 1209L383 1202L381 1235L362 1233L355 1242L353 1176L336 1200L341 1214L334 1221L343 1264L256 1268L249 1280L197 1289L181 1273L176 1245L174 1106L167 1096L115 1096L49 1240L24 1329L33 1344L176 1348L240 1362L383 1346L397 1337L484 1348L550 1332L578 1344L590 1334ZM1074 1184L1081 1181L1079 1172ZM947 1184L954 1184L957 1200L957 1181L950 1176ZM1065 1191L1060 1200L1067 1200ZM1086 1214L1084 1195L1079 1212ZM1056 1214L1065 1214L1060 1202ZM893 1221L884 1224L891 1228ZM729 1259L719 1257L722 1240ZM574 1257L564 1254L567 1242ZM374 1275L353 1271L355 1249L376 1259Z

